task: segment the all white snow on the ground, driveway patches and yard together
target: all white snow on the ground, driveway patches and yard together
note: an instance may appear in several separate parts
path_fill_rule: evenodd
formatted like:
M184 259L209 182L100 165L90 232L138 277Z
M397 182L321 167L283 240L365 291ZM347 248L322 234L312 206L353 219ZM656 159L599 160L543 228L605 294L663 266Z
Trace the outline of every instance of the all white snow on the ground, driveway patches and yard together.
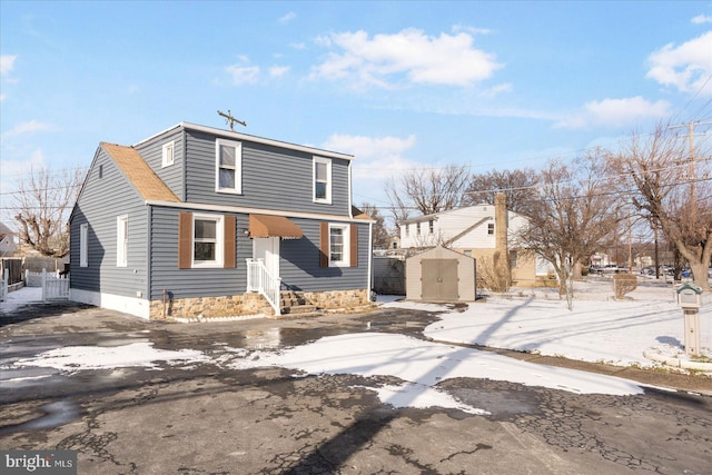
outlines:
M17 308L37 299L34 289L11 294L1 310ZM706 295L709 298L709 294ZM228 368L276 366L306 374L354 374L395 376L404 383L383 385L376 390L382 400L396 407L453 407L482 414L466 406L437 384L447 378L471 377L544 386L578 394L637 394L635 383L621 378L521 362L505 356L453 344L528 350L572 359L616 365L654 366L643 352L684 353L682 310L672 287L641 287L624 301L612 299L610 284L586 284L577 289L573 311L555 293L521 289L508 296L490 297L467 304L464 311L452 306L419 304L386 298L386 308L435 311L439 320L429 325L425 342L404 335L374 331L325 337L283 350L263 348L237 350L216 344L216 350L167 352L150 343L117 347L65 347L14 362L3 369L53 367L63 372L126 366L156 367L172 364L211 363ZM700 313L703 353L712 356L712 303ZM209 324L208 324L209 325Z

